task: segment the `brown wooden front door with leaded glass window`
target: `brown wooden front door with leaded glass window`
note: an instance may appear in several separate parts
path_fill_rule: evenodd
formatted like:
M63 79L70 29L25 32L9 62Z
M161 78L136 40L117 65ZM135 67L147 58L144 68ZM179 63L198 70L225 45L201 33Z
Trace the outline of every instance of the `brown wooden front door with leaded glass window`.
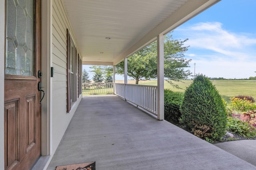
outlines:
M41 1L6 0L4 167L29 170L41 154Z

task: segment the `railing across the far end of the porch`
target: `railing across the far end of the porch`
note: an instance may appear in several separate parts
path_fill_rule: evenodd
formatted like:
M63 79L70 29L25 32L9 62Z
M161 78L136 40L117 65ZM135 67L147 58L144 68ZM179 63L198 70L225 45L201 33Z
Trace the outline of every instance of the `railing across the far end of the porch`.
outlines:
M83 83L83 94L113 94L113 83Z

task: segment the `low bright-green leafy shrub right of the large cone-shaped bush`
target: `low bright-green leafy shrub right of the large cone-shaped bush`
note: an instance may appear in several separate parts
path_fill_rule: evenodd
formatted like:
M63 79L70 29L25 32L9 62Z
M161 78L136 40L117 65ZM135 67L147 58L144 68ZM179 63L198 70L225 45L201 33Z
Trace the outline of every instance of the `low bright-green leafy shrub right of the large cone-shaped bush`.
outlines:
M244 137L255 137L256 129L248 124L248 122L241 121L234 117L228 117L227 130L237 133Z

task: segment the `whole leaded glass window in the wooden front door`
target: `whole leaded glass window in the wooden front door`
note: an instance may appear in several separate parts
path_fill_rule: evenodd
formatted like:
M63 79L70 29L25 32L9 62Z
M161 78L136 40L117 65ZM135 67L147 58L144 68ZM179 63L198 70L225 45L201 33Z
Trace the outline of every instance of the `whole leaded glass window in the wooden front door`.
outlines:
M34 0L6 3L6 74L34 76Z

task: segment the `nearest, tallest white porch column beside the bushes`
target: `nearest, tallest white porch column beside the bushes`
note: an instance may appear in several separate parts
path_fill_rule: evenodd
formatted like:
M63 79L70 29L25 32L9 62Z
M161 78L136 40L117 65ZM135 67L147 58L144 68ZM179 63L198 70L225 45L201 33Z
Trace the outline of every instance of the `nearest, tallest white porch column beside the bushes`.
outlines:
M157 36L157 119L164 119L164 35Z

